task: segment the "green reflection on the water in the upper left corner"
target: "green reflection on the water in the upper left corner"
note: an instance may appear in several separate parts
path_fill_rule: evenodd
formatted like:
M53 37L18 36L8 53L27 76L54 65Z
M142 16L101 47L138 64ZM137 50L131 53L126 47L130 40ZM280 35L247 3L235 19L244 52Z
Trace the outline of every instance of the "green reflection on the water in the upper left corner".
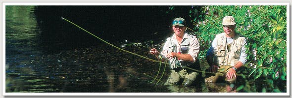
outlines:
M33 14L35 6L6 6L6 43L35 45L40 34Z

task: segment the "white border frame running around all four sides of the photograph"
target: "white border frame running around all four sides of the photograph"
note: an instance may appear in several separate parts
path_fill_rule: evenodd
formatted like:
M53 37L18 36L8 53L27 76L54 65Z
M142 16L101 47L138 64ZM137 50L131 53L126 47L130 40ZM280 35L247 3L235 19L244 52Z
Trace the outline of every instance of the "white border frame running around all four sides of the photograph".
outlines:
M287 42L290 42L290 2L2 2L2 95L3 96L290 96L290 45L287 44L287 93L6 93L6 5L286 5Z

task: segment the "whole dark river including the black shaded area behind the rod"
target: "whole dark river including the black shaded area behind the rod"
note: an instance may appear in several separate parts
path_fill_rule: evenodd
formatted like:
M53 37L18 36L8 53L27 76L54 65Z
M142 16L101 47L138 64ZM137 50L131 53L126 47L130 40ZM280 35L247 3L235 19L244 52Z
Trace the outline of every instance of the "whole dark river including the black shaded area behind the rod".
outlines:
M155 59L148 50L162 47L171 20L184 13L167 11L169 6L6 6L5 92L237 92L235 85L201 80L191 87L162 86L168 66L163 73L163 64L113 48L60 19Z

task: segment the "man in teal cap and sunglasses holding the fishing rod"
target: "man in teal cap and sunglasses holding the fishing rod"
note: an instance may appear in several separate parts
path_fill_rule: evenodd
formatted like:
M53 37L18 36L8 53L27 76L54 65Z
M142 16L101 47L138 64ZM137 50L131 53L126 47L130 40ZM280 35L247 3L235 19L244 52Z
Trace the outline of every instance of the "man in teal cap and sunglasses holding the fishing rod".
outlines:
M195 35L186 33L184 18L175 18L172 29L174 34L167 38L161 53L155 48L151 49L150 53L157 58L167 58L170 63L171 74L164 85L178 84L183 79L183 85L190 86L196 78L200 77L199 72L190 69L200 70L199 42Z

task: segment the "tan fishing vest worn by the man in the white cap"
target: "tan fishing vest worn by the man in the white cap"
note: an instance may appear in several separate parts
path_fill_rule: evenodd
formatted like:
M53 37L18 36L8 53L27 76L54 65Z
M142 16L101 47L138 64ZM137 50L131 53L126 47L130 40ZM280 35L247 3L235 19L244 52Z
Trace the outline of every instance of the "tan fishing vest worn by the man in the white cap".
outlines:
M234 66L239 62L243 41L245 37L242 34L236 33L234 41L231 43L229 49L227 46L227 40L225 33L216 35L217 37L217 51L216 56L218 57L218 65L231 65Z

